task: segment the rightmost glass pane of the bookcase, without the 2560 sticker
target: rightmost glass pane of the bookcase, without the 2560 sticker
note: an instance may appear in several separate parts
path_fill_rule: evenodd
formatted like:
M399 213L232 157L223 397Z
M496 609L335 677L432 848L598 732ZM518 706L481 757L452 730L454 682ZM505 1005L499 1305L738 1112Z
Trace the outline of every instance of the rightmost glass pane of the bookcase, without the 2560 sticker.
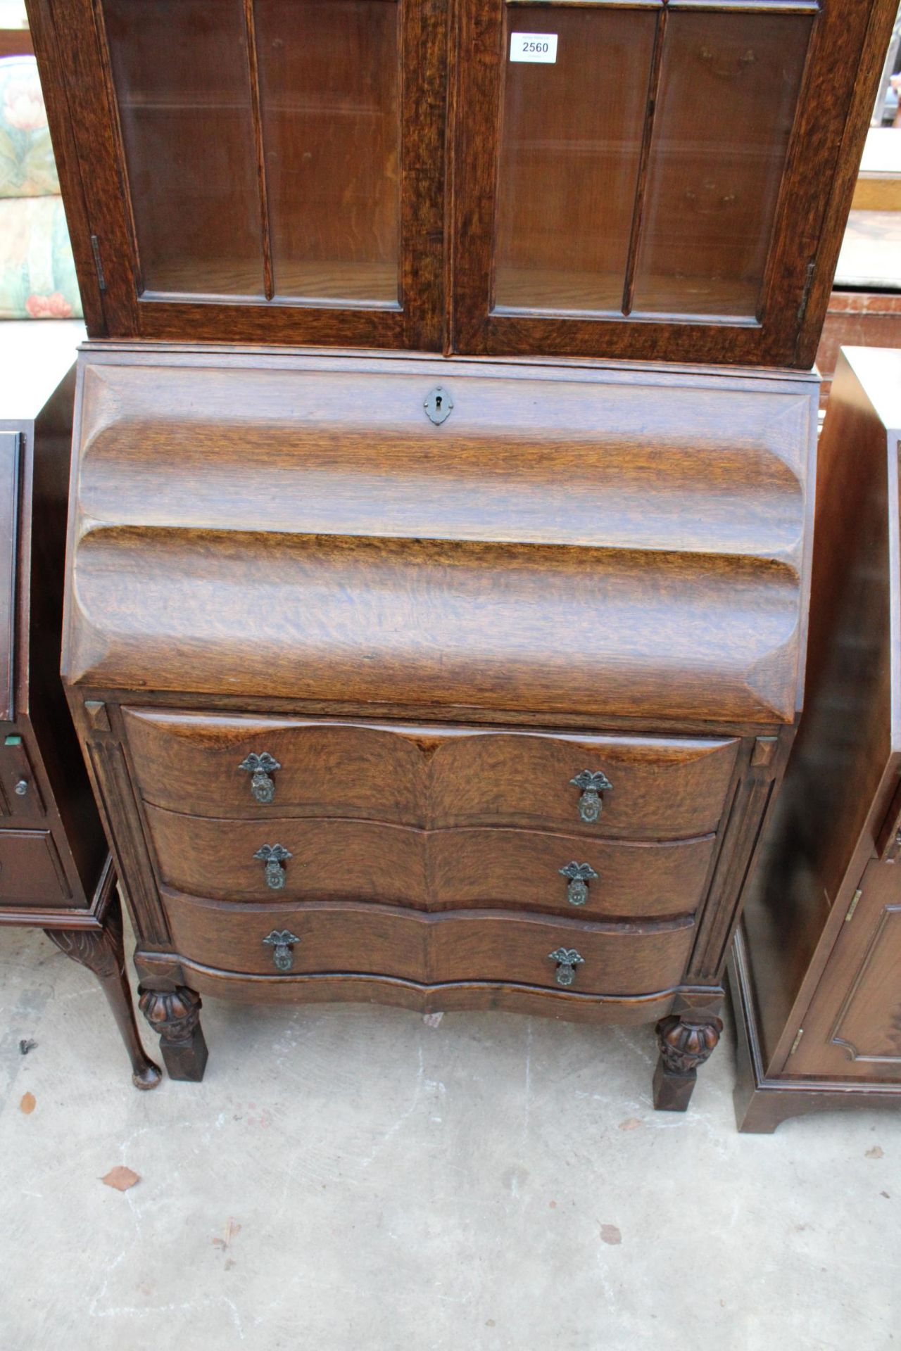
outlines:
M670 12L635 312L756 313L810 23Z

